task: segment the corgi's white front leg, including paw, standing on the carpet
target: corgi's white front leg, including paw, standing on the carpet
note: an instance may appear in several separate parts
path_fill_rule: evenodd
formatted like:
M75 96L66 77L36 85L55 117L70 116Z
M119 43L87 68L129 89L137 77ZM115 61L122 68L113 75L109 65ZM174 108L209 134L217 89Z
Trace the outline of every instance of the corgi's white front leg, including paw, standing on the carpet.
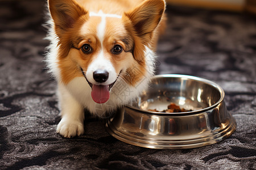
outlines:
M57 133L65 138L83 134L84 108L71 94L69 94L64 85L60 83L58 86L58 95L62 118L57 125Z

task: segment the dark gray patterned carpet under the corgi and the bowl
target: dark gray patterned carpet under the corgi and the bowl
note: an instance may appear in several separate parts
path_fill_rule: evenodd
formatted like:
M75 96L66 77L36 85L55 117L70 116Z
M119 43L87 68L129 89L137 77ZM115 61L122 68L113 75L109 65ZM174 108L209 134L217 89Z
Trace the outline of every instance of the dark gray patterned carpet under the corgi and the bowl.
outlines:
M45 68L44 0L0 1L0 169L256 169L256 18L168 6L158 74L220 84L236 132L214 145L154 150L110 136L86 114L85 134L65 139L54 80Z

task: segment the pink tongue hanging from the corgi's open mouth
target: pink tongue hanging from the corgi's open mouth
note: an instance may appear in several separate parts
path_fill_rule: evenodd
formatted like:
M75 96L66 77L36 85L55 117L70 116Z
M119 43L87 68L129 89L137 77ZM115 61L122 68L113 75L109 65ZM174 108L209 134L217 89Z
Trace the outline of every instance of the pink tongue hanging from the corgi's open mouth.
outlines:
M106 103L109 100L109 86L93 84L90 95L96 103Z

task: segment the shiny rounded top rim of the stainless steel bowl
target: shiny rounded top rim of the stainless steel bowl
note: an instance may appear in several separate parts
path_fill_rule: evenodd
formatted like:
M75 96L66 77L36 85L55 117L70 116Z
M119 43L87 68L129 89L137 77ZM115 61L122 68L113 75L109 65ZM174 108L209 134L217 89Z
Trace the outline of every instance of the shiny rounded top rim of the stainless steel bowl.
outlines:
M184 79L192 79L192 80L196 80L196 81L199 81L199 82L203 82L203 83L206 83L206 84L216 88L218 90L218 92L220 92L220 99L215 104L213 104L213 105L211 105L207 108L199 109L199 110L196 110L196 111L179 112L179 113L152 112L152 111L146 111L146 110L138 109L138 108L135 108L131 105L125 105L125 107L133 109L135 111L143 112L143 113L146 113L146 114L158 114L158 115L163 114L165 116L167 116L167 115L180 116L180 115L184 115L184 114L189 115L189 114L198 114L198 113L202 113L202 112L207 112L207 111L209 111L213 108L216 108L217 105L220 104L224 100L225 92L221 88L221 86L218 85L217 83L212 82L211 80L208 80L208 79L204 79L204 78L200 78L200 77L192 76L192 75L184 75L184 74L158 74L158 75L152 76L150 82L152 81L152 79L157 79L157 78L184 78Z

